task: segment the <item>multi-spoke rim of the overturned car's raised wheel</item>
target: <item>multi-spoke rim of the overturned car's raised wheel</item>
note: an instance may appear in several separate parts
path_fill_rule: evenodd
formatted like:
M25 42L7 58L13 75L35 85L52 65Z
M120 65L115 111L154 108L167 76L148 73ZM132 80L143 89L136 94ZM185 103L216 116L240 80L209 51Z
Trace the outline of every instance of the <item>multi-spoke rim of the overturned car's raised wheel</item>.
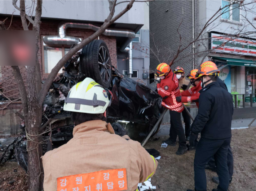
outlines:
M99 63L99 70L100 76L104 83L108 83L110 81L110 56L109 52L104 46L100 47L99 55L98 55L98 63Z

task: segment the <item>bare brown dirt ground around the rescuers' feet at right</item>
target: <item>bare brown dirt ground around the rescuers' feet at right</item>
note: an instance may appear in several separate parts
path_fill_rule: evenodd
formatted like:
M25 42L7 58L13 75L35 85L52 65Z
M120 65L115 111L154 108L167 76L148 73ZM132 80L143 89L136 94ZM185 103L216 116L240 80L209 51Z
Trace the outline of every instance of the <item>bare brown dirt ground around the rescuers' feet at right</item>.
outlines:
M168 136L160 137L157 141L150 139L145 145L146 149L158 150L161 156L158 161L158 169L151 178L152 185L156 186L156 190L159 191L193 189L195 150L187 151L184 155L178 156L175 154L178 145L175 147L167 146L167 148L161 147L162 140L167 138ZM232 130L231 148L234 156L234 174L229 191L255 191L256 127ZM212 176L217 176L217 173L206 170L207 191L217 188L217 184L211 180Z

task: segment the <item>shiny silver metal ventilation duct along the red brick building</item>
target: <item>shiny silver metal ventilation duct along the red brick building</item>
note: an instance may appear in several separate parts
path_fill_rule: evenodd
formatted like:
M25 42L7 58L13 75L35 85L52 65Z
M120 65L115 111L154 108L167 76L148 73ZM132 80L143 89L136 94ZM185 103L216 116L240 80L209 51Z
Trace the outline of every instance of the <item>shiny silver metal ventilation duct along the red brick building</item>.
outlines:
M47 45L73 45L78 44L80 39L78 37L66 36L68 28L78 28L78 29L90 29L93 31L98 31L100 27L93 24L85 23L63 23L58 26L58 36L46 36L44 37L44 43ZM120 47L120 51L128 52L130 50L129 45L132 39L135 38L135 32L129 29L106 29L103 32L105 36L114 37L127 37L128 39Z

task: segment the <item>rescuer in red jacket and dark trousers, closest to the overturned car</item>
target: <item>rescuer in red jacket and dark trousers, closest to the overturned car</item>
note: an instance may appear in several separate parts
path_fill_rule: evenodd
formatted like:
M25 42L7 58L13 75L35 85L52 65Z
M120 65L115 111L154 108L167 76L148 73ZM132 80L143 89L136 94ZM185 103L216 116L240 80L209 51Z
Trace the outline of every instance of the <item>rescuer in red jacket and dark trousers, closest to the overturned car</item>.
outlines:
M186 152L187 146L180 115L184 108L182 103L176 100L176 97L181 96L178 79L166 63L161 63L157 66L155 75L158 76L158 93L163 98L162 106L167 108L170 113L170 138L163 142L175 146L178 135L180 145L176 154L182 155Z

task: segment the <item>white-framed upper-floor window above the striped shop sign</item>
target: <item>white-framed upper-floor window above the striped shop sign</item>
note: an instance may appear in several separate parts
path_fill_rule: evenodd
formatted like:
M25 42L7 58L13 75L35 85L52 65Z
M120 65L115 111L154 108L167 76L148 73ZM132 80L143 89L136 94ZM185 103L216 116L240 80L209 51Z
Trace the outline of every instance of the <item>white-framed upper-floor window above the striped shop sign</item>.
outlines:
M226 20L232 20L236 22L240 22L240 9L239 9L239 2L236 1L228 1L228 0L221 0L221 18Z

